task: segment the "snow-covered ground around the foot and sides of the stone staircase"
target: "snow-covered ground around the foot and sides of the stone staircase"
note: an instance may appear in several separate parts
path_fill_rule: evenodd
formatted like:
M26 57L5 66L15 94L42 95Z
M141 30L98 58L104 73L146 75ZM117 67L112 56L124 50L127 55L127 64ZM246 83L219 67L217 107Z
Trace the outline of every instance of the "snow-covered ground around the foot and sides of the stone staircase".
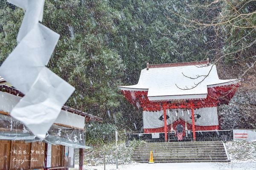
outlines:
M126 148L125 144L118 144L119 150L119 170L256 170L256 142L227 142L227 150L231 161L227 163L161 163L161 164L140 164L131 160L132 152L138 144L132 142L130 147ZM115 170L115 145L109 144L102 146L105 148L106 154L106 170ZM84 170L104 170L103 148L87 150L85 152ZM122 152L122 154L120 153ZM76 154L78 155L78 154ZM108 158L108 159L107 159ZM78 170L78 158L76 158L75 168L70 170Z

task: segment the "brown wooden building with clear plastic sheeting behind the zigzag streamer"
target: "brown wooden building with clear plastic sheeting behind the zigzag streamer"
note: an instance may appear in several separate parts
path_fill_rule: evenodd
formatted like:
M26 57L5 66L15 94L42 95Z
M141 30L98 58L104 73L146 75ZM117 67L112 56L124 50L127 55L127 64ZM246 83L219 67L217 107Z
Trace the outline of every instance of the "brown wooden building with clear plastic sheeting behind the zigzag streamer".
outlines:
M75 166L74 148L79 148L83 169L85 122L102 118L63 106L44 140L10 116L24 94L0 77L0 170L68 170Z

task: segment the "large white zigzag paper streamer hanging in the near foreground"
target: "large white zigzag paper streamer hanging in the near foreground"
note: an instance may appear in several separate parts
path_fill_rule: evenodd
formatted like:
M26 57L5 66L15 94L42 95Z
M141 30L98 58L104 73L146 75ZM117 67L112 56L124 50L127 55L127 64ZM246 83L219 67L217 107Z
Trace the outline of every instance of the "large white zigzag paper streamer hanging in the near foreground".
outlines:
M45 66L59 34L43 26L44 0L8 0L26 11L17 47L0 67L0 75L25 96L11 116L23 122L40 139L57 119L62 106L75 90Z

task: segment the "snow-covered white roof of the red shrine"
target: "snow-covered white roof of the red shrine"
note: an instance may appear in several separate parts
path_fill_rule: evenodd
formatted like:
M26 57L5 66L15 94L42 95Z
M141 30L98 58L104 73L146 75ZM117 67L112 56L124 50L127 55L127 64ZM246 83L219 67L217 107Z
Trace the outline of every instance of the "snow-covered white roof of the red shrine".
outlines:
M118 86L118 88L123 91L148 91L150 101L187 100L205 99L207 88L232 85L237 82L238 79L219 79L216 65L210 64L207 59L200 62L160 65L147 63L147 68L140 73L137 85Z

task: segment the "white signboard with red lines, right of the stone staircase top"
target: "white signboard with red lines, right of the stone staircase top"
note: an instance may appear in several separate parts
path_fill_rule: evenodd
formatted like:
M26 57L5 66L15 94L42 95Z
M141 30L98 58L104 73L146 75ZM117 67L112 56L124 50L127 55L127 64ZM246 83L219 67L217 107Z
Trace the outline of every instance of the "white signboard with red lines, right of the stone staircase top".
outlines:
M256 142L256 129L234 129L233 141Z

